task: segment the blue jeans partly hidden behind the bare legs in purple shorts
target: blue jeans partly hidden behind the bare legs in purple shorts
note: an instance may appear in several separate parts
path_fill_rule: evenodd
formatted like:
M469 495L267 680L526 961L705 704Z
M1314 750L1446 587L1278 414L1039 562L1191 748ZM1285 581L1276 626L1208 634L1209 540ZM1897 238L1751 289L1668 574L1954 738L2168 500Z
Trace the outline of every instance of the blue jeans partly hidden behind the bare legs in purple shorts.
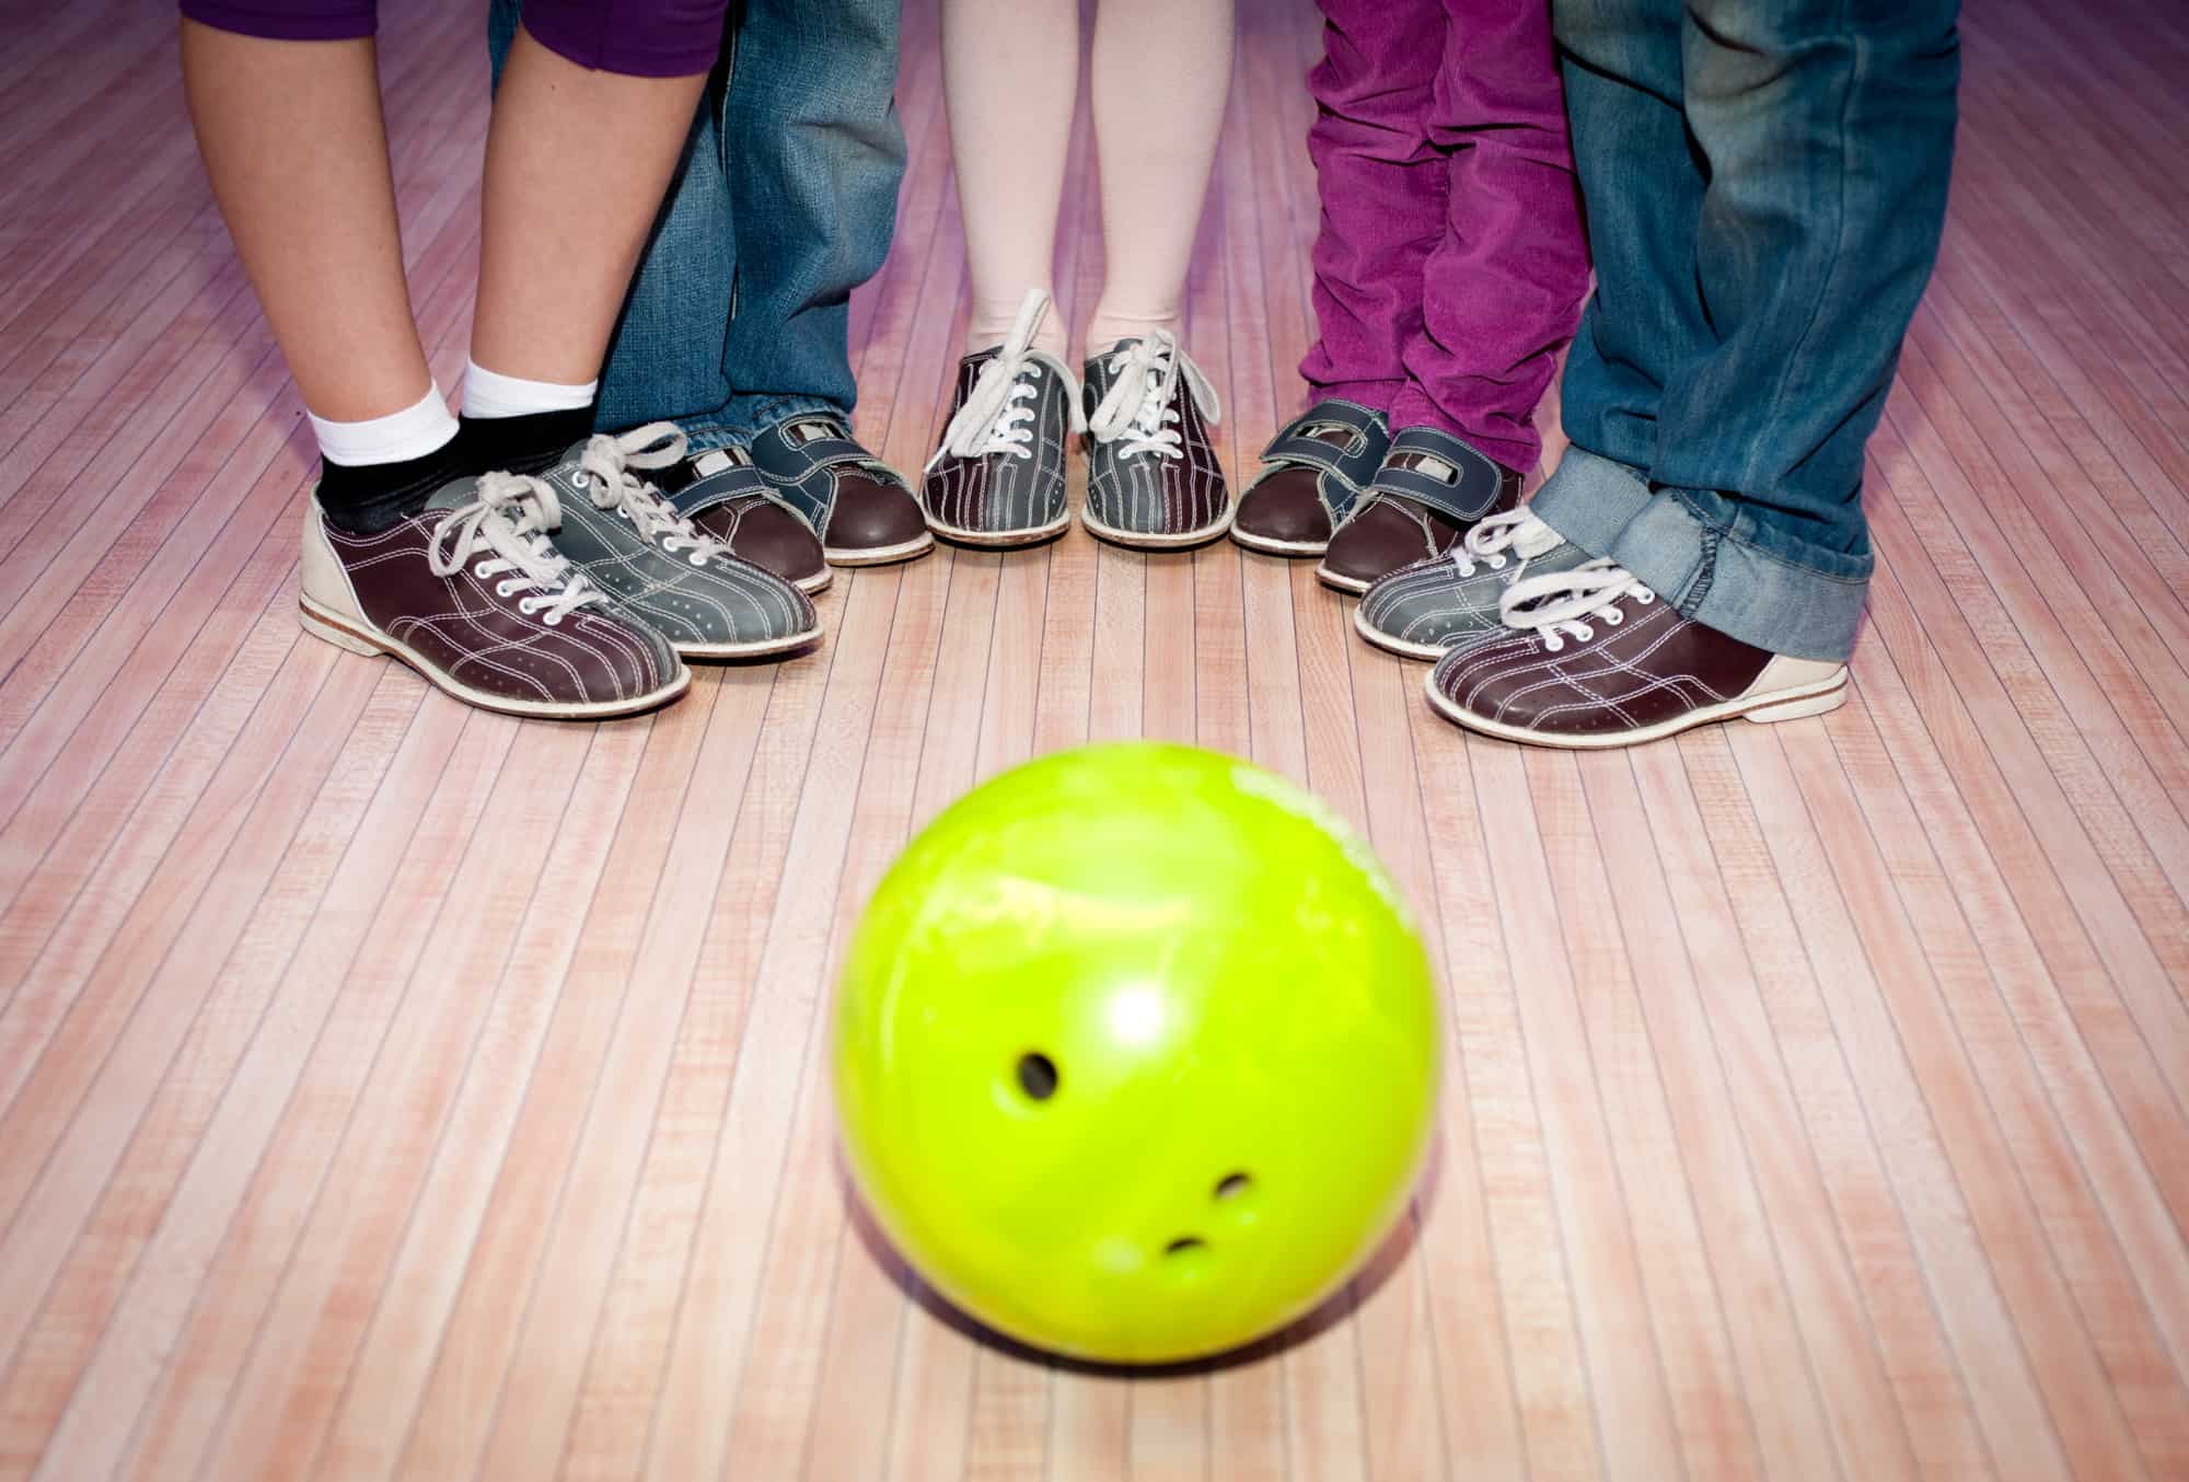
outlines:
M904 177L900 0L738 0L600 372L600 427L727 447L852 412L852 289L889 256ZM493 0L495 74L521 0Z

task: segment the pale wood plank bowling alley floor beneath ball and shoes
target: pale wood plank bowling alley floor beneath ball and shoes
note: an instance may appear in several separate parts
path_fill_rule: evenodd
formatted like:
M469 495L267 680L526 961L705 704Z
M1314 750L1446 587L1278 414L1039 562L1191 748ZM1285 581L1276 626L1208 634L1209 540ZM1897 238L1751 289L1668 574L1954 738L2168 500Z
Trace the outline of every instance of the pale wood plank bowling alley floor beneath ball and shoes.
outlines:
M455 385L479 18L390 9ZM2189 1478L2189 13L1966 26L1854 703L1576 757L1464 740L1230 545L847 576L821 652L598 729L315 644L311 440L171 13L9 7L0 1478ZM1191 285L1235 475L1302 394L1318 44L1241 2ZM904 66L854 339L911 468L965 291L933 7ZM1084 123L1073 180L1084 313ZM1458 1068L1342 1302L1138 1381L919 1300L847 1217L819 1053L908 832L1112 736L1366 825Z

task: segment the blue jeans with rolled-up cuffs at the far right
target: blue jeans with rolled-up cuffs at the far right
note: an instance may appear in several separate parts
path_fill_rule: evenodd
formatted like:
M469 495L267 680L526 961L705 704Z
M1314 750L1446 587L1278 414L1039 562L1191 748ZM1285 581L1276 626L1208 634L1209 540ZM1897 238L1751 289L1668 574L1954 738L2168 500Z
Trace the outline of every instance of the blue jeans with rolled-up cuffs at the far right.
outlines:
M1681 613L1845 659L1863 447L1937 258L1957 0L1554 0L1596 296L1534 510Z

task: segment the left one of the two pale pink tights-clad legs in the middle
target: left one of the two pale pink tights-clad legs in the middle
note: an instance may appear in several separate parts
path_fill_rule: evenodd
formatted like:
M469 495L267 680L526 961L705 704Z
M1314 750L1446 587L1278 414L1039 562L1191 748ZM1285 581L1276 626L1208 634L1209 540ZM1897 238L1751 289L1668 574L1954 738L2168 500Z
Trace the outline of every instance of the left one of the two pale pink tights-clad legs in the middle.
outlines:
M1077 94L1077 4L943 0L943 96L972 276L968 352L1003 344L1027 289L1051 289ZM1064 359L1057 315L1033 348Z

